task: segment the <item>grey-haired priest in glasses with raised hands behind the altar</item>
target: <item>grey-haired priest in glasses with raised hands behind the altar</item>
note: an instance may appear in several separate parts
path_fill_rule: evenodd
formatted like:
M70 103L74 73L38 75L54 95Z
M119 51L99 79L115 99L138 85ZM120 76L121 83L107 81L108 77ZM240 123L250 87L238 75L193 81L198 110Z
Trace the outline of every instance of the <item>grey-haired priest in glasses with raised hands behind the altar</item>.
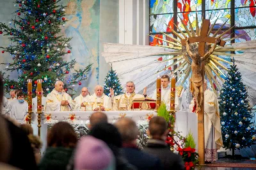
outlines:
M114 104L113 104L113 110L114 111L131 111L132 107L132 101L135 99L142 99L144 100L146 95L146 88L143 91L143 95L136 94L134 92L135 90L135 84L132 81L126 82L126 91L122 95L118 95L114 98Z

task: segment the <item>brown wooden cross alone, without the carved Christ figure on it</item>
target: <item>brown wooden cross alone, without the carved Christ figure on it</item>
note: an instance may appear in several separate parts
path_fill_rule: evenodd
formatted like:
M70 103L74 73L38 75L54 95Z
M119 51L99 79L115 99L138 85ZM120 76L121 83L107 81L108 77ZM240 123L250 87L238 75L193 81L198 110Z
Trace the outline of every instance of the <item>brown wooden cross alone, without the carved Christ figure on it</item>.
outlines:
M200 36L193 36L188 38L189 43L195 43L199 42L198 45L198 54L200 56L204 56L205 54L205 43L215 43L217 38L207 36L209 32L210 27L210 20L204 19L201 27L201 33ZM220 46L224 47L225 41L221 40L219 43ZM186 40L181 40L181 44L186 45ZM202 77L203 77L203 84L204 84L204 77L205 77L205 63L201 63L201 69L202 69ZM204 146L204 91L202 94L202 107L201 111L198 112L198 154L199 154L199 164L205 164L205 146Z

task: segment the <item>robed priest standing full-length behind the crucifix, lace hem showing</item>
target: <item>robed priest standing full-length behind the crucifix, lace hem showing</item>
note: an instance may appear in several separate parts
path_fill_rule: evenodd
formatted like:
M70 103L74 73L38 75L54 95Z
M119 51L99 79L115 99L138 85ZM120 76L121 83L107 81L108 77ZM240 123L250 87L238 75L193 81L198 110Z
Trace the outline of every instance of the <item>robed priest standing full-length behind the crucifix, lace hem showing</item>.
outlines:
M207 81L204 81L204 142L205 162L215 162L218 158L217 150L223 146L220 111L218 99L213 91L207 89ZM191 101L189 110L196 111L195 100Z

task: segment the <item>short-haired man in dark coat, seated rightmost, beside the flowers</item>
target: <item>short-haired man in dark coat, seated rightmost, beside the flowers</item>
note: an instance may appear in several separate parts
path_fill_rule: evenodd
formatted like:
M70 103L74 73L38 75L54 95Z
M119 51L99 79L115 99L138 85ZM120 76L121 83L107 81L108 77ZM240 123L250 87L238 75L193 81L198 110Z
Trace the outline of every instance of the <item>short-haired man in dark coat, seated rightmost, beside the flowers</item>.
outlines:
M151 118L148 125L150 139L144 150L160 158L164 169L184 170L184 162L180 155L173 153L165 143L168 132L167 123L163 117Z

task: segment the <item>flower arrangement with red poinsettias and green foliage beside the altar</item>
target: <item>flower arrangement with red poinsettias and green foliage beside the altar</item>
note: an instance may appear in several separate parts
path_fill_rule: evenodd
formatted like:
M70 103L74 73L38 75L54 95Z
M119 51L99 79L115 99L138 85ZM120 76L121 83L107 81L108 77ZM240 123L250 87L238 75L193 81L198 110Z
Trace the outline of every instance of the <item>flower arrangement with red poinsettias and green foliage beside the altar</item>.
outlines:
M175 115L170 114L166 110L166 105L162 103L157 111L157 116L162 116L168 123L168 129L170 130L166 143L170 146L170 149L179 151L179 155L185 162L186 170L195 169L195 165L198 164L198 153L196 153L196 144L191 132L186 137L180 135L180 132L175 132ZM175 140L176 139L176 140Z

